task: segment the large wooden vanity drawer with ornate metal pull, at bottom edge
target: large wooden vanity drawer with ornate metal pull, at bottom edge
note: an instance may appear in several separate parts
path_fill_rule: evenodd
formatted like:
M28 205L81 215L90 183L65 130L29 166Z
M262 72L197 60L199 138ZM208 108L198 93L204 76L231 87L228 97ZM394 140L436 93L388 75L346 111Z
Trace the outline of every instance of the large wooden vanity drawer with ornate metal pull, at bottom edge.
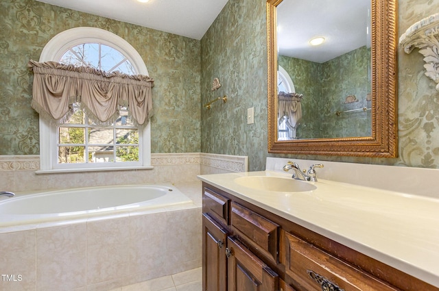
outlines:
M285 273L298 283L298 290L397 290L290 233L283 234Z

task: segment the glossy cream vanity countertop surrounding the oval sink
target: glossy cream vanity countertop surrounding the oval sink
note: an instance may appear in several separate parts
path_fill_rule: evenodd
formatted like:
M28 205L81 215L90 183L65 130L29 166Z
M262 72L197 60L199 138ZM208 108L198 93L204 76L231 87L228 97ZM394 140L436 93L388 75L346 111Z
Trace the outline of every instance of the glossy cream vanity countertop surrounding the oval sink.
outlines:
M199 179L351 249L439 287L439 199L319 179L316 190L272 192L234 182L275 171Z

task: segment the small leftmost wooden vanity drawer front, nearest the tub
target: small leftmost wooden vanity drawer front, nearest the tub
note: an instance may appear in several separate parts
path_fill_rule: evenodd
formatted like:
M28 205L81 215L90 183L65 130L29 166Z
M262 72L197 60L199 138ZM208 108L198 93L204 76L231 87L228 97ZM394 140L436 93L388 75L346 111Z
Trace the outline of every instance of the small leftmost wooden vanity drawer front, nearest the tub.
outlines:
M228 207L230 199L209 188L203 191L203 212L215 218L219 223L228 225Z

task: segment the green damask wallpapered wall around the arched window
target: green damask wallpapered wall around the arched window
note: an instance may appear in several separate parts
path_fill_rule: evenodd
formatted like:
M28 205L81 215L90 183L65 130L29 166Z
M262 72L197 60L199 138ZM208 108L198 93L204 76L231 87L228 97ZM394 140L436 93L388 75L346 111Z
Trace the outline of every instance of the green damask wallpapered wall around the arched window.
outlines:
M0 155L39 153L38 114L30 107L32 73L60 31L99 27L139 51L154 78L152 152L200 151L200 41L34 0L0 2Z

